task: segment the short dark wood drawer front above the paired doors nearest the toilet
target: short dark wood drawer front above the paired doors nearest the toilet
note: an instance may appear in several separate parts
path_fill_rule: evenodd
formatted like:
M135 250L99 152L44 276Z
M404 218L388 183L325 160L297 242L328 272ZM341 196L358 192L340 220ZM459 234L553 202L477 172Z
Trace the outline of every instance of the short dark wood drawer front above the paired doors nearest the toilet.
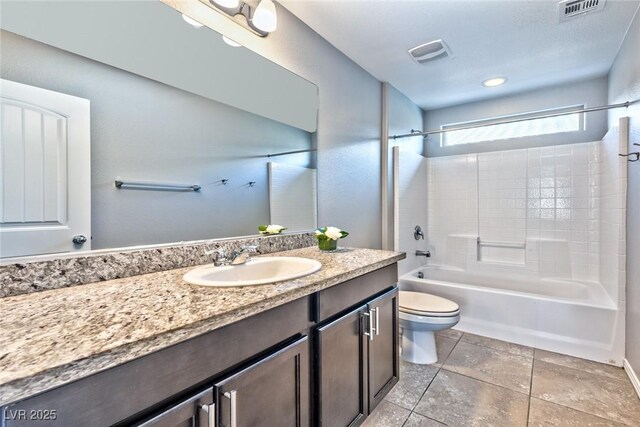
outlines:
M370 299L373 295L395 286L398 264L392 264L314 295L314 321L322 322L343 310Z

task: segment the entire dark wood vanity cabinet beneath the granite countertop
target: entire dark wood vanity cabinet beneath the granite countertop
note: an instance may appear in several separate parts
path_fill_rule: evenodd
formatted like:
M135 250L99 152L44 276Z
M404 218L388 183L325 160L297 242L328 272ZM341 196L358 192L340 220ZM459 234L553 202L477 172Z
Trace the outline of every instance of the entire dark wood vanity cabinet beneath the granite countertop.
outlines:
M0 424L358 426L398 381L396 280L382 267L10 403Z

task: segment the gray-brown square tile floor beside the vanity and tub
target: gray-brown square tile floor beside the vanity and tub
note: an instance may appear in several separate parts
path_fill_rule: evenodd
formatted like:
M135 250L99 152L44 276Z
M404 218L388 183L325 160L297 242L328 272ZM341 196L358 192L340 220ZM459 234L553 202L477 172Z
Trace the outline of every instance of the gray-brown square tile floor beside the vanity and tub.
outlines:
M438 362L402 362L365 427L640 426L621 368L447 330Z

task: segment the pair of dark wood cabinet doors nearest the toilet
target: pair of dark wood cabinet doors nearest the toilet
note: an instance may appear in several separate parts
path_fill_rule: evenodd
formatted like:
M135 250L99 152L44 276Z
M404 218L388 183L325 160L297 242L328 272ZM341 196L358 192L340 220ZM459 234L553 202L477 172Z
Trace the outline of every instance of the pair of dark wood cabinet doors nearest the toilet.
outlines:
M315 330L318 425L357 426L399 378L398 290Z

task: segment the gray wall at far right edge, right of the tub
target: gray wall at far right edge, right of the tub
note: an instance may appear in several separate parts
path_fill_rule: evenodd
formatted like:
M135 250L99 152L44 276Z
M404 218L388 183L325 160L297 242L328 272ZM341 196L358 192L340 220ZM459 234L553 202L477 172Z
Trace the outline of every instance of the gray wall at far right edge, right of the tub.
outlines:
M609 102L640 100L640 12L627 32L609 72ZM611 110L609 123L628 116L629 152L640 151L640 101L627 109ZM640 163L628 163L627 181L627 328L626 358L640 375Z

